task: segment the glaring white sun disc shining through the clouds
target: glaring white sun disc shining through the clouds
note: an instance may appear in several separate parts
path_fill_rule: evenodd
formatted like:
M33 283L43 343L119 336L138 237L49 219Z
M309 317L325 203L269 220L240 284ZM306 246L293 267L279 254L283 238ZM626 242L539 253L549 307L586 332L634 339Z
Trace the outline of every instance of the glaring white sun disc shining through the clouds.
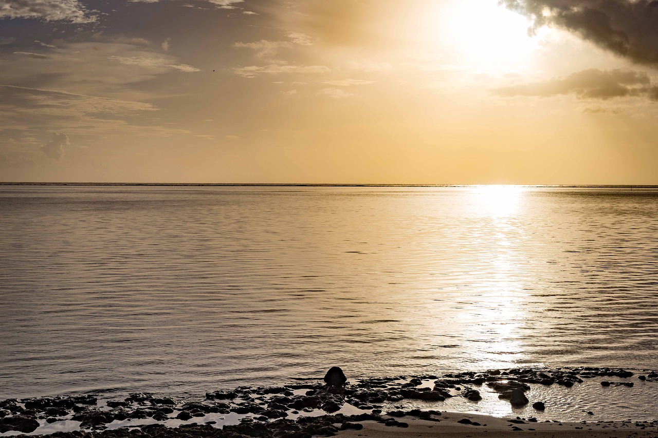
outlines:
M443 23L444 35L470 66L524 64L538 48L538 37L528 36L528 18L497 0L454 0Z

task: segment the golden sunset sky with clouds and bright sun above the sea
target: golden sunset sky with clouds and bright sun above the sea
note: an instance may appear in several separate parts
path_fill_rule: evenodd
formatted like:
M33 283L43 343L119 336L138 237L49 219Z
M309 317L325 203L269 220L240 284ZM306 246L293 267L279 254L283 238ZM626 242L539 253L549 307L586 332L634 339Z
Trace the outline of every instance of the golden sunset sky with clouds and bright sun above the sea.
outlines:
M658 184L657 0L3 0L0 181Z

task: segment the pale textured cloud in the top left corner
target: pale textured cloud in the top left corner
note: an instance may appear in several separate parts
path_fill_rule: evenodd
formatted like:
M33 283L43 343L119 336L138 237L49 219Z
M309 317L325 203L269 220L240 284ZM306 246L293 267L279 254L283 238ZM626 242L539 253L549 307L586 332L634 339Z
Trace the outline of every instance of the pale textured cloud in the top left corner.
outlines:
M3 0L0 18L37 18L45 21L93 22L78 0Z

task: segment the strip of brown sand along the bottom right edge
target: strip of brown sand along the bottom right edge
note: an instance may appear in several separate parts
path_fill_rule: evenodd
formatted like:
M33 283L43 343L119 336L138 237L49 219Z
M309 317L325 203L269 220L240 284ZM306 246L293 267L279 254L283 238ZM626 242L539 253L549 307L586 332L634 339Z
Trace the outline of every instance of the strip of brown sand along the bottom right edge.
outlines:
M538 437L538 438L658 438L658 423L636 422L527 422L515 424L509 420L516 418L495 418L476 414L460 414L443 412L435 416L440 422L420 420L418 418L395 418L399 422L409 424L409 427L386 426L381 423L361 422L361 430L341 431L340 438L407 438L407 437L443 437L443 438L476 438L476 437ZM458 421L467 418L482 426L459 424ZM518 421L518 420L517 420ZM522 430L513 430L518 427Z

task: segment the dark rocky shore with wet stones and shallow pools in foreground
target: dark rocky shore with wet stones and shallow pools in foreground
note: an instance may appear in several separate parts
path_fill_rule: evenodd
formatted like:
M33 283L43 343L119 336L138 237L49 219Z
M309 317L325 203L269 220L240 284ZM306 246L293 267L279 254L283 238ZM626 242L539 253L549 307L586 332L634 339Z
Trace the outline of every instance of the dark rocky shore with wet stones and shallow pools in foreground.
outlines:
M335 435L339 431L360 430L366 425L404 429L409 422L417 424L454 423L473 433L483 422L466 415L452 417L438 410L441 402L463 397L472 402L482 399L481 391L497 393L511 406L532 406L541 413L550 400L529 400L531 385L573 387L597 377L601 387L632 387L633 380L658 382L658 373L634 374L619 368L517 368L464 372L442 376L394 376L360 379L349 383L340 368L334 367L324 381L309 381L280 387L239 387L232 391L206 393L203 401L181 401L156 397L148 393L132 393L122 400L101 401L94 395L39 399L7 399L0 401L0 433L39 433L46 425L67 422L75 430L55 431L57 438L120 437L276 437L302 438L312 435ZM623 379L623 381L620 381ZM658 387L658 385L657 385ZM425 408L403 409L403 401L422 401ZM397 407L396 407L397 406ZM658 409L658 407L657 407ZM209 416L230 416L236 424L218 424ZM472 418L472 417L471 417ZM151 424L132 425L134 420ZM499 419L496 419L499 420ZM532 416L505 420L503 431L536 431L528 425L540 422ZM488 421L491 424L493 420ZM601 430L617 426L599 422ZM511 426L510 426L511 425ZM524 425L524 426L522 426ZM506 426L506 427L507 427ZM632 428L658 436L657 422L636 422ZM422 426L426 427L426 426ZM542 426L546 429L547 426ZM555 426L557 427L557 426ZM555 427L551 428L553 430ZM580 430L574 426L574 431ZM630 426L628 426L630 427ZM619 429L619 427L617 427ZM377 430L376 427L372 430ZM622 436L622 435L620 435ZM649 435L646 435L649 436Z

